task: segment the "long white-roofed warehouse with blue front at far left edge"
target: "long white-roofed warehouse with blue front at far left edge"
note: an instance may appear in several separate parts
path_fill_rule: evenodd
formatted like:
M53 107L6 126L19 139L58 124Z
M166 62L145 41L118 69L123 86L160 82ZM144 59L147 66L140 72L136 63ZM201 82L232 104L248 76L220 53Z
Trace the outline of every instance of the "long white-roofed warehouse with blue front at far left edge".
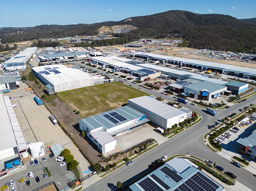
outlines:
M27 149L9 96L0 92L0 175L20 164L19 152Z

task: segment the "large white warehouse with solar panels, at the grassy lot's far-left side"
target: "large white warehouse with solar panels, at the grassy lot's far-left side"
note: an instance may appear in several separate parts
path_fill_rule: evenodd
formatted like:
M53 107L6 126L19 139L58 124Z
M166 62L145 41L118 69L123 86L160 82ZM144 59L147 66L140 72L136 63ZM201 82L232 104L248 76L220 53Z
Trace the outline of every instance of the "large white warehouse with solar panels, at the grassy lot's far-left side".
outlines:
M61 64L35 67L32 68L32 72L45 85L50 85L53 92L64 92L66 90L93 86L102 84L104 81L103 76L92 76L79 69L68 68Z

